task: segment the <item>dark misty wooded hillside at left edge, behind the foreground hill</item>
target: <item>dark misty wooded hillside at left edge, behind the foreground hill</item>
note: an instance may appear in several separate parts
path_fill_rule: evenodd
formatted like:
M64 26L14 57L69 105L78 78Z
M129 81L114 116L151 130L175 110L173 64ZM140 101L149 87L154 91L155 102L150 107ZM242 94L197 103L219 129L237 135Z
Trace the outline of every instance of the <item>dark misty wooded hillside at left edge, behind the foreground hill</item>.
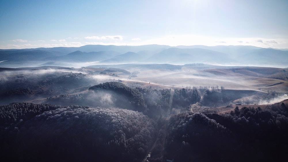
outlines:
M97 83L95 79L86 74L53 69L4 71L2 73L5 75L0 77L0 104L79 92L84 90L83 87L87 89L91 84Z

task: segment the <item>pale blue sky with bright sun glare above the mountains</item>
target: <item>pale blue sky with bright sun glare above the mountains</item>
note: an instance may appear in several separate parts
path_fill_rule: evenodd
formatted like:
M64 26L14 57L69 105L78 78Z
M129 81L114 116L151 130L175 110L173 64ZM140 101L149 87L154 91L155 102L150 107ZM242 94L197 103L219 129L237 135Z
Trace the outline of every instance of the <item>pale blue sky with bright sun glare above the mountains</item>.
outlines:
M0 49L88 44L288 48L288 1L0 1Z

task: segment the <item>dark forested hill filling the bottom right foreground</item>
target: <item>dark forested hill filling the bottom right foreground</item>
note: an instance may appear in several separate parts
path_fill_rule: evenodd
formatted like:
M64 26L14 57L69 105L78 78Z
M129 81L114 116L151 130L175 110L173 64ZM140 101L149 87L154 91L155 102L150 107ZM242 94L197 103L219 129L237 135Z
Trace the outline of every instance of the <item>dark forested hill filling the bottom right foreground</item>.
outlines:
M175 161L286 161L288 105L169 117L164 157ZM152 150L152 152L156 152Z

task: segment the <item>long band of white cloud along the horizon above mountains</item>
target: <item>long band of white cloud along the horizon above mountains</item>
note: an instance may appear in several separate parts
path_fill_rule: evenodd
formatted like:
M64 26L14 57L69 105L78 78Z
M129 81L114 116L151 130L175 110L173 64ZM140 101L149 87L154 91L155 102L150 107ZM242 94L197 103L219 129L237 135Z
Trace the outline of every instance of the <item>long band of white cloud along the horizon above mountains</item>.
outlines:
M73 37L72 37L73 38ZM77 38L77 37L75 37ZM80 47L83 45L148 45L148 44L159 44L159 45L253 45L263 48L288 48L288 39L274 39L274 38L222 38L222 37L205 37L200 35L167 35L163 37L153 39L139 39L133 38L126 41L119 41L123 39L122 36L103 36L103 37L89 37L89 39L60 39L51 41L29 41L29 43L19 43L19 41L10 41L10 44L1 43L0 49L23 49L23 48L38 48L38 47ZM94 40L93 40L93 39ZM95 38L97 38L95 40ZM70 42L70 40L75 40ZM221 41L219 41L221 40ZM239 41L241 40L241 41ZM15 42L15 43L11 43ZM224 43L226 42L226 43Z

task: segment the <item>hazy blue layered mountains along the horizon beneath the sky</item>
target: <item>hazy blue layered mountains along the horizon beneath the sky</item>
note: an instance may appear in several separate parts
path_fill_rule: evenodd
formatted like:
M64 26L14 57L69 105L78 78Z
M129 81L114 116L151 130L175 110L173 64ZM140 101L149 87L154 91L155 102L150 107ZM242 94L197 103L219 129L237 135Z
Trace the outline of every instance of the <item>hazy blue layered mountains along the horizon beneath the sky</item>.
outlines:
M288 64L288 50L255 46L176 46L168 45L85 45L35 49L1 49L0 67L39 65L79 66L94 64L191 64L282 66ZM77 64L77 65L76 65ZM85 64L86 66L86 64Z

